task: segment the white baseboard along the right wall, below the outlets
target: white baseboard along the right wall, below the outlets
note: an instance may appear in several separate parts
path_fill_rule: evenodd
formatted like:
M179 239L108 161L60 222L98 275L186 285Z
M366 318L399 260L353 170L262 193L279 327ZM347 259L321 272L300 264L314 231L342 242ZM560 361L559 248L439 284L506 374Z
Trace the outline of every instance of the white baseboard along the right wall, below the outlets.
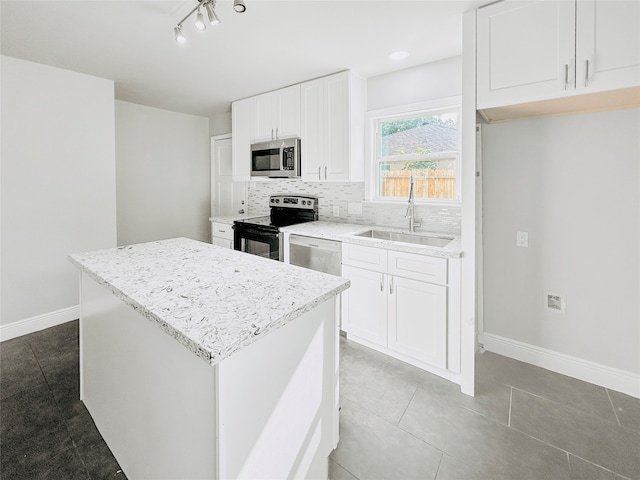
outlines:
M640 375L510 338L484 333L485 350L640 398Z

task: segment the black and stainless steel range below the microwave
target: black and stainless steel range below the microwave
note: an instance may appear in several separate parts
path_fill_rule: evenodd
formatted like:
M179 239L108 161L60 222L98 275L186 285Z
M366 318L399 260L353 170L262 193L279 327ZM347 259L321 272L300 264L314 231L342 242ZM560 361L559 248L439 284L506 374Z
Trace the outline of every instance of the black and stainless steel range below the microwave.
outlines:
M233 248L242 252L284 259L280 227L318 219L318 197L301 195L272 195L271 214L233 222Z

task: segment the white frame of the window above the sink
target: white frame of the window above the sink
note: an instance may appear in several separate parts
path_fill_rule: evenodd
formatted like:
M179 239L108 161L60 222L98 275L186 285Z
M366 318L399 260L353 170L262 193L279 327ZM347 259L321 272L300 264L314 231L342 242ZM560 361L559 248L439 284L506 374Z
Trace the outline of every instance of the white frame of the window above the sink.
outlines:
M402 119L412 118L416 116L437 115L438 113L456 112L458 115L457 124L457 155L456 155L456 193L457 198L416 198L415 203L421 205L461 205L461 169L462 169L462 97L447 97L428 102L419 102L396 107L382 108L379 110L370 110L366 115L366 145L365 145L365 201L386 204L398 204L406 202L405 198L398 197L380 197L378 196L379 178L378 165L380 163L377 158L378 149L378 131L377 125L379 121L385 119ZM433 158L437 158L438 153ZM446 155L450 158L450 155ZM396 160L409 160L408 157ZM393 161L393 160L392 160Z

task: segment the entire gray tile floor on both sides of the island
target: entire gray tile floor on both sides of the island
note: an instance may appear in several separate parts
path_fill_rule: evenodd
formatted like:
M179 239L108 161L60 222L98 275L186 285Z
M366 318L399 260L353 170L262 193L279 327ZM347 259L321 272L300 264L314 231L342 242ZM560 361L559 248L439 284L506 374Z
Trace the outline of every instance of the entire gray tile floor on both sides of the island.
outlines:
M333 480L640 479L638 399L492 353L471 398L348 340L341 353ZM77 321L0 343L0 464L3 480L125 479L79 401Z

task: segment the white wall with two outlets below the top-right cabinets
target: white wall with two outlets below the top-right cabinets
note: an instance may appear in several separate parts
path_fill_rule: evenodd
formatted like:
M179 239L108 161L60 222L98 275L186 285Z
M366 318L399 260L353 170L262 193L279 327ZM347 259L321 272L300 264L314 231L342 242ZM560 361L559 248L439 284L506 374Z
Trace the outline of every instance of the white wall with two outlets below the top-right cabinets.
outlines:
M487 334L640 373L638 132L638 109L483 127Z

